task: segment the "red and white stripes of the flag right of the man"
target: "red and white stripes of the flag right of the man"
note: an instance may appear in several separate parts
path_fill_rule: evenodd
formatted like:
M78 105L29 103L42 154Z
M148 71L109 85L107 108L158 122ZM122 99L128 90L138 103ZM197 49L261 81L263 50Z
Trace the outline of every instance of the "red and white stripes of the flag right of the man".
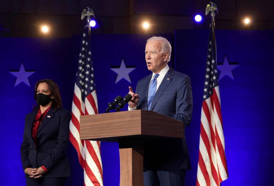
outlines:
M219 186L228 178L219 86L202 102L196 186Z

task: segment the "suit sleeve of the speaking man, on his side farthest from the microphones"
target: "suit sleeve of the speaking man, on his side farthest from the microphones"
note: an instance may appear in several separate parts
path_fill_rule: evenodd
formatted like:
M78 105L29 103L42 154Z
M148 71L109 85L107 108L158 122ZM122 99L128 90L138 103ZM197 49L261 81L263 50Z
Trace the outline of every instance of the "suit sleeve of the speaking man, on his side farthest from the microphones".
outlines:
M184 126L190 124L192 116L192 91L189 76L185 76L177 90L176 113L172 118L184 122Z

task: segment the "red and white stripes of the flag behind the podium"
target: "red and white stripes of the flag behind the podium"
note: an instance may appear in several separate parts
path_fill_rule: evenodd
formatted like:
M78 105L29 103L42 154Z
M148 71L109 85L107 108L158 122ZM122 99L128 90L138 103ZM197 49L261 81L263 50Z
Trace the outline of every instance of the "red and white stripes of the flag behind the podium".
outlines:
M70 142L78 153L81 167L84 169L84 185L102 186L102 161L99 141L80 140L80 116L98 114L96 91L87 95L85 102L81 90L75 84L70 121Z

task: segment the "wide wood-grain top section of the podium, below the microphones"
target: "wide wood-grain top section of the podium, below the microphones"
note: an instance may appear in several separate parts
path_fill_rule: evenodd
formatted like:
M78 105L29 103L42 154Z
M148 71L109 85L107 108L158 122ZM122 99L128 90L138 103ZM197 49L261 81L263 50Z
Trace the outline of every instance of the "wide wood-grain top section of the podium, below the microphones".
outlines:
M80 139L117 142L119 138L182 138L183 122L148 110L80 116Z

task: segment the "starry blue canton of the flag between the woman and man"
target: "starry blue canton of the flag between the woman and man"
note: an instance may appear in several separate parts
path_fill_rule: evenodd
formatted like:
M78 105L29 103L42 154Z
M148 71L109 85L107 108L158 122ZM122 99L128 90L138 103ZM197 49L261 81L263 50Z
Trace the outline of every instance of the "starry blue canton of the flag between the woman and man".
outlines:
M90 38L88 36L88 28L85 28L82 36L81 50L76 73L76 84L81 90L82 100L85 102L85 97L96 90L94 81L94 70L90 48Z

